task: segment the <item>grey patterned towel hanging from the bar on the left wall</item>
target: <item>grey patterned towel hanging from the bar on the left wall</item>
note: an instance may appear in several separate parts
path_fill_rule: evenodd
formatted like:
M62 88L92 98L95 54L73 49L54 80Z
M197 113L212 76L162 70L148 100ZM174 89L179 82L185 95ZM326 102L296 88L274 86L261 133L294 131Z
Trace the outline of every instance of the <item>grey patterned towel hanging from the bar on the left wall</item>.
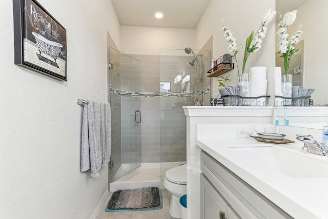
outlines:
M99 169L106 166L111 154L110 105L89 101L84 106L81 171L91 168L91 176L99 176Z

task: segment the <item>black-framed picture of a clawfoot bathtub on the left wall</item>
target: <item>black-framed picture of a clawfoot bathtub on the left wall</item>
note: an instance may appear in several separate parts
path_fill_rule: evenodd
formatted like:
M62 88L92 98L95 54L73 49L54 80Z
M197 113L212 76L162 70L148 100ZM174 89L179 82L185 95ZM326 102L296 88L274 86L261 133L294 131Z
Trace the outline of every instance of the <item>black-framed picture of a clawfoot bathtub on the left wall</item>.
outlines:
M35 0L13 0L15 64L67 81L66 29Z

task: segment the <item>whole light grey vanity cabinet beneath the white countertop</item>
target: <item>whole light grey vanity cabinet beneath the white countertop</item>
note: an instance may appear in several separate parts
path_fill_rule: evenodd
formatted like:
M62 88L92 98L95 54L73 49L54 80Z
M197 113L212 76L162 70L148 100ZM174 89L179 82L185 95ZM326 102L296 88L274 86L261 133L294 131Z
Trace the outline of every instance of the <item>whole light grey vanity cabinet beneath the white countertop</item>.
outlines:
M200 162L201 218L292 218L208 153Z

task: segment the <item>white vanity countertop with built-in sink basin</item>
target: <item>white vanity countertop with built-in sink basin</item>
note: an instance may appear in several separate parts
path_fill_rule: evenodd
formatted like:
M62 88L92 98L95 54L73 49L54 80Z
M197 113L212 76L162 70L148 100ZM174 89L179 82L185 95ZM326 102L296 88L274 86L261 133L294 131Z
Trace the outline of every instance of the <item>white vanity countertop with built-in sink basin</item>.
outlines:
M328 218L328 157L251 137L196 144L292 217Z

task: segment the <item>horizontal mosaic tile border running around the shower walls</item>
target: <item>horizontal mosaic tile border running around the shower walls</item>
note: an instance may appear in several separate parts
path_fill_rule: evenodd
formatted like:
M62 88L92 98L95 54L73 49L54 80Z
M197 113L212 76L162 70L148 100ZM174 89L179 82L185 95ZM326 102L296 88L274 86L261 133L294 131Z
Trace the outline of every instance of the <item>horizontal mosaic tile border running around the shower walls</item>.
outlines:
M135 92L135 91L120 91L115 87L110 86L109 90L111 93L121 95L121 96L145 96L145 97L195 97L200 96L201 94L206 94L211 91L210 87L202 89L202 91L197 91L196 93L161 93L161 92Z

